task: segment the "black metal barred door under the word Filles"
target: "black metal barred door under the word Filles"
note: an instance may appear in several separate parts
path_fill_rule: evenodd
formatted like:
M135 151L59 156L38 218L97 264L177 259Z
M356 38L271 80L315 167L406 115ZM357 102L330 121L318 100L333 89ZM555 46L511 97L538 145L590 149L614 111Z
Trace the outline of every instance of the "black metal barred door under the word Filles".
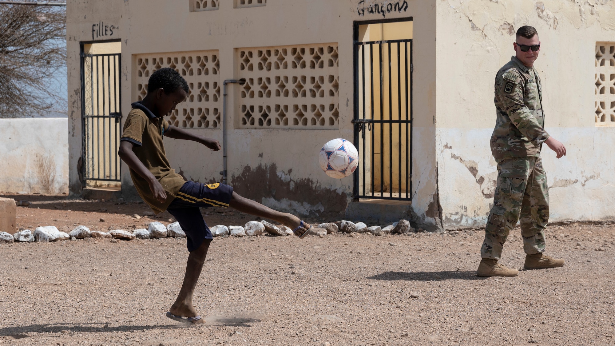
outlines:
M119 182L121 54L81 54L84 179Z

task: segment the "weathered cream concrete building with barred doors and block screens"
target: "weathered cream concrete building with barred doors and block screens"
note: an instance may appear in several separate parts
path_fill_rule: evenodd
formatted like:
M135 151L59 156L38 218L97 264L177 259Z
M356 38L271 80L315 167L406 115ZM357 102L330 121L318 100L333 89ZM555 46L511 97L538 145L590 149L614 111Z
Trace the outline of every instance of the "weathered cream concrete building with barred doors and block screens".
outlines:
M613 219L614 5L69 0L70 190L135 195L127 167L113 161L121 116L149 75L170 66L191 87L170 116L175 126L222 142L226 106L226 173L240 194L322 217L483 225L496 179L493 80L514 55L515 30L533 25L546 128L568 148L560 160L542 154L551 220ZM359 149L354 177L319 167L320 147L335 138ZM221 153L172 139L165 147L186 179L223 180Z

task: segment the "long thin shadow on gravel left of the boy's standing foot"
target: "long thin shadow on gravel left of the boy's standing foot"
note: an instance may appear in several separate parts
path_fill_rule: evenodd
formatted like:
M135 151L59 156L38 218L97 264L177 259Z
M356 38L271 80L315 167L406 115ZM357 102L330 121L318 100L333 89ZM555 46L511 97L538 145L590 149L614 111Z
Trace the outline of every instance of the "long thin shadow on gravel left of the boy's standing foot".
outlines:
M178 328L181 324L167 324L154 326L115 326L109 327L105 323L58 323L58 324L31 324L30 326L14 326L0 328L0 336L10 336L14 339L30 337L28 333L58 333L61 331L71 332L129 332L132 330L142 331L143 329L172 329Z

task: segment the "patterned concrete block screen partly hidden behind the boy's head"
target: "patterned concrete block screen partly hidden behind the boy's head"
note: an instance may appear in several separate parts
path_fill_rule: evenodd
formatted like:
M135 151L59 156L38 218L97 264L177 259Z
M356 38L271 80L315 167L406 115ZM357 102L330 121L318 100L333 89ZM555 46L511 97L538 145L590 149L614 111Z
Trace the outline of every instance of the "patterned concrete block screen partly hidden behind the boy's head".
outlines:
M188 82L188 99L178 105L169 122L178 127L212 129L220 127L221 82L218 50L139 54L137 62L137 99L147 94L148 79L154 71L170 67Z

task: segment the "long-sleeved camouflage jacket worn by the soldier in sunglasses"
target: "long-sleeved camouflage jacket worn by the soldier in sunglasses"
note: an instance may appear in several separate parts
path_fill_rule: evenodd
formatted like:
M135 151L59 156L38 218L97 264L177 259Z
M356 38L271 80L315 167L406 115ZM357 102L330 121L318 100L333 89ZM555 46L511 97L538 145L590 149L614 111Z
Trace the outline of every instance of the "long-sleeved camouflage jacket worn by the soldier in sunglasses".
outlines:
M542 85L533 67L516 57L496 75L496 127L491 135L491 153L498 159L540 156L541 144L549 138L544 130Z

